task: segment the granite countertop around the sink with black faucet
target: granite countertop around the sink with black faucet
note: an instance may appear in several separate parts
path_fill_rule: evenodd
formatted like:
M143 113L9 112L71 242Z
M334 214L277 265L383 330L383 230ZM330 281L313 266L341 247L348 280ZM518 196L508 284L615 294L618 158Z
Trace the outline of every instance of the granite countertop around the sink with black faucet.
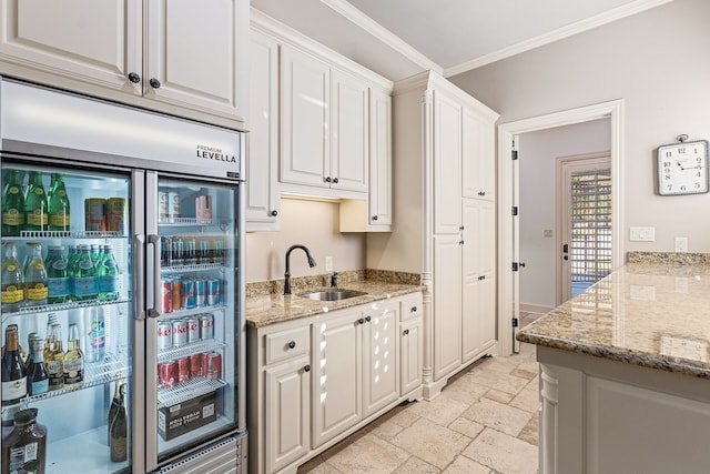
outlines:
M327 286L312 286L293 290L294 294L271 293L246 297L246 325L263 327L270 324L292 321L300 317L326 313L328 311L366 304L373 301L402 296L404 294L423 291L425 286L418 284L393 283L381 280L361 280L338 284L338 290L355 290L367 294L341 301L315 301L297 296L304 291L327 290Z

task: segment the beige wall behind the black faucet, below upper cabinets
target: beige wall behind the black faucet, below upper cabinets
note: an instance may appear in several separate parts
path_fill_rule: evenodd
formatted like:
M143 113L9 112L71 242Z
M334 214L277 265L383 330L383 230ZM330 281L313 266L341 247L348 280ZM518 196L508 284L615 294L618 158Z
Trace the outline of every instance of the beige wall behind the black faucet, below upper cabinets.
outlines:
M284 278L286 250L300 243L308 248L317 262L308 266L305 254L291 254L291 275L306 276L328 273L325 258L333 256L333 270L365 268L365 238L361 233L341 233L339 204L320 201L281 200L281 231L247 233L245 239L246 282Z

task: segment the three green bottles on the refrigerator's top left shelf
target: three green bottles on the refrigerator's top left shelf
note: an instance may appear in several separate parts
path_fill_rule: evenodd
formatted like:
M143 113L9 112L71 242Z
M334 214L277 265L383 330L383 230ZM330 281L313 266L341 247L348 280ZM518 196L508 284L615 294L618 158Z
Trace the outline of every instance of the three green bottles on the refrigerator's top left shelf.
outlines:
M62 173L51 173L45 192L40 171L30 171L23 190L20 170L11 169L2 189L2 235L19 236L22 231L69 231L70 209Z

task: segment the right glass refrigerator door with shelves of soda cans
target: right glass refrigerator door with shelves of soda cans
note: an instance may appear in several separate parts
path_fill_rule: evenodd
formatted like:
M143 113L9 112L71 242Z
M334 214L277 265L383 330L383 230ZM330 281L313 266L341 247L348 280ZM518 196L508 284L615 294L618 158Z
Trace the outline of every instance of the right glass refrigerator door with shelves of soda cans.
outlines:
M146 222L149 234L158 230L156 288L146 306L156 370L146 372L160 464L237 427L240 230L236 185L164 175L155 185Z

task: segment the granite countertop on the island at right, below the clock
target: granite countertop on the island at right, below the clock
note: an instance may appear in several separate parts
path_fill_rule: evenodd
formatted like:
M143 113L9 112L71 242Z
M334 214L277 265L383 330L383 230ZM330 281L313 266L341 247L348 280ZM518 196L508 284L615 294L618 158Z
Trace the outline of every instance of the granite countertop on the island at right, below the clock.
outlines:
M710 380L710 262L637 255L517 339Z

